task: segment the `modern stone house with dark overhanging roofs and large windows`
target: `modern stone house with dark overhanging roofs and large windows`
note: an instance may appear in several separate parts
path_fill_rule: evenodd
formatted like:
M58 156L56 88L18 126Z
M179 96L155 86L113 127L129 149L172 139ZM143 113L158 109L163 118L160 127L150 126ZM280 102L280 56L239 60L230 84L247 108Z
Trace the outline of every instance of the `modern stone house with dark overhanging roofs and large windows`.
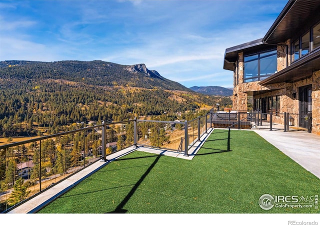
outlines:
M223 68L233 71L233 110L272 111L283 122L320 135L320 1L289 0L264 37L225 49ZM310 117L306 117L306 115ZM294 121L295 119L295 121Z

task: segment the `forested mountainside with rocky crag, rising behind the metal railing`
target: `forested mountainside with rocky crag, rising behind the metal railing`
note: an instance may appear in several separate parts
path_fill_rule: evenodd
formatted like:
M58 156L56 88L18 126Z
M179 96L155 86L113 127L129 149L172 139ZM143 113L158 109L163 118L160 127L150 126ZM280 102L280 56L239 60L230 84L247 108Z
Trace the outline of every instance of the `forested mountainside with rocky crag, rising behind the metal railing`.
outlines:
M0 136L41 135L90 120L177 118L227 98L193 92L144 64L0 62ZM183 115L182 115L183 116Z

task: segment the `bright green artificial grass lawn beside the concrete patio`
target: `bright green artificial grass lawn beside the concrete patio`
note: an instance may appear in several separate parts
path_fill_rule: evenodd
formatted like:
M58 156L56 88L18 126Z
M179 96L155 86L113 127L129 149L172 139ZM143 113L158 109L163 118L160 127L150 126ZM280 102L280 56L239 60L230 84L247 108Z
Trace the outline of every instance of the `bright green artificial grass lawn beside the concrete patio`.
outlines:
M320 179L253 131L215 129L192 160L134 151L38 213L318 213L258 205L262 194L310 196Z

